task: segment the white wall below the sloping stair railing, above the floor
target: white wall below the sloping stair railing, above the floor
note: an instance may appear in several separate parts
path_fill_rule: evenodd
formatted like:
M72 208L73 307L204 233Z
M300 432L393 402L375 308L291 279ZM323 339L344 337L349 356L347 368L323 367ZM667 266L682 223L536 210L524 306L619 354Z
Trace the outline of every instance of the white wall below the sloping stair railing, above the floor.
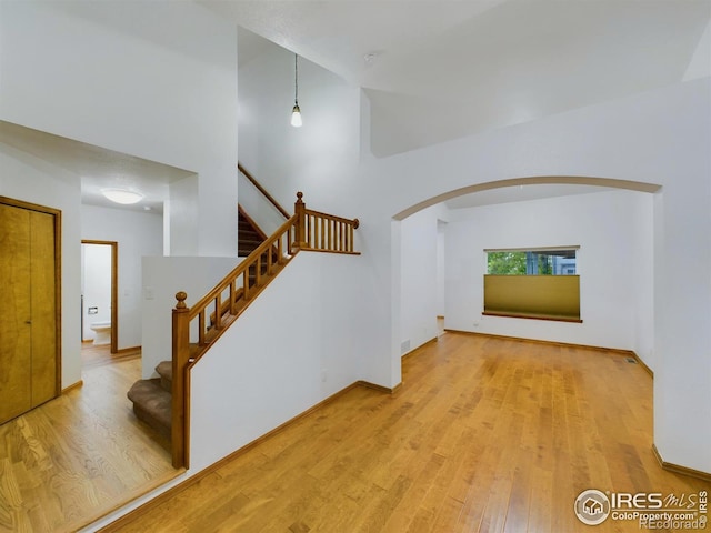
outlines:
M301 252L191 371L198 472L360 380L359 258Z

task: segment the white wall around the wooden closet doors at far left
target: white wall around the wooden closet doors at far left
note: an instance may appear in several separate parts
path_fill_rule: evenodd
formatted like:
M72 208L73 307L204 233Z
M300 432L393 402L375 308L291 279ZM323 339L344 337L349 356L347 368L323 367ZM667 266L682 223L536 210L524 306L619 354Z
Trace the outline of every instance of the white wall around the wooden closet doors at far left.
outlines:
M79 177L0 143L0 195L59 209L61 215L62 389L81 380Z

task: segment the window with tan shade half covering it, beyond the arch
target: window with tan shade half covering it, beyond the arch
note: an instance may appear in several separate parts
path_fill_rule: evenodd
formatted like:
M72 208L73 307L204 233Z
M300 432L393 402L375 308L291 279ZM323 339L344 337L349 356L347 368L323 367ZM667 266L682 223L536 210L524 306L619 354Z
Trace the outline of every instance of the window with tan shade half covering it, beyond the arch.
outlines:
M578 249L484 250L483 314L582 322Z

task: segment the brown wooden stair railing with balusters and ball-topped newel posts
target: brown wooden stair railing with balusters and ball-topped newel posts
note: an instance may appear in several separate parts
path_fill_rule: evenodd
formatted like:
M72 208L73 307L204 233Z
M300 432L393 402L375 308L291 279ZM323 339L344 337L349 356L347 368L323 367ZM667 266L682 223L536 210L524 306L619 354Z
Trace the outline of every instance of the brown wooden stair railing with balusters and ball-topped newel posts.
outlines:
M298 192L294 214L200 301L188 308L188 294L182 291L176 294L171 390L173 467L189 465L189 370L300 250L359 254L353 249L358 219L309 210L302 198Z

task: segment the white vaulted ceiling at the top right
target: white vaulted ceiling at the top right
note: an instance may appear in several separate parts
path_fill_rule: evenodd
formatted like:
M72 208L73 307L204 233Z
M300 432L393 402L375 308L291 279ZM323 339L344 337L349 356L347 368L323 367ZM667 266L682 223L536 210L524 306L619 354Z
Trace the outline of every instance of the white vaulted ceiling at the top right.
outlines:
M375 155L711 71L709 0L200 3L362 87Z

